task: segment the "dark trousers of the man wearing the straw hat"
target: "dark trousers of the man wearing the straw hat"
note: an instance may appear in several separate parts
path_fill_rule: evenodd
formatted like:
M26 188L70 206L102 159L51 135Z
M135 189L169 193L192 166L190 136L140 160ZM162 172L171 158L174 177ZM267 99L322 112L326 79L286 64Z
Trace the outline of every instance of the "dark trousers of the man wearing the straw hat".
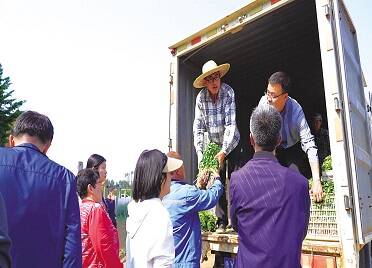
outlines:
M226 165L227 165L227 176L230 179L231 173L237 170L239 165L239 153L240 146L238 145L234 150L232 150L227 156L223 168L220 170L220 180L222 185L225 187L225 190L222 193L222 196L218 200L216 205L216 216L217 216L217 226L223 224L225 227L228 224L227 217L227 199L226 199Z

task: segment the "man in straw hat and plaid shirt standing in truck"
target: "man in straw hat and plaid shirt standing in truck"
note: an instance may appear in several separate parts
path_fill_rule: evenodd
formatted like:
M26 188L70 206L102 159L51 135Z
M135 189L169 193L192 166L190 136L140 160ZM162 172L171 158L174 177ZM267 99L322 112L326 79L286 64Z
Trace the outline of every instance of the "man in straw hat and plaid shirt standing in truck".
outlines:
M193 125L194 146L198 156L198 164L203 158L204 132L208 138L222 147L216 158L221 167L221 182L226 180L225 158L232 160L230 153L238 145L240 134L235 121L234 90L221 82L221 78L229 71L230 64L217 65L213 60L206 62L202 74L194 81L195 88L203 88L196 97L195 119ZM233 170L230 162L228 176ZM217 207L217 232L224 232L228 223L227 201L225 192L221 196Z

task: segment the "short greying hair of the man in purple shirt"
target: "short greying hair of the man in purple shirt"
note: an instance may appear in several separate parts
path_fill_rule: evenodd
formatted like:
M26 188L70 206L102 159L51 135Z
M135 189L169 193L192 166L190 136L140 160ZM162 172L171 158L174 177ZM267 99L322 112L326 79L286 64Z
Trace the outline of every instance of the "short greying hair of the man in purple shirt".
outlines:
M255 143L264 151L275 150L280 137L282 117L271 105L259 105L251 115L250 131Z

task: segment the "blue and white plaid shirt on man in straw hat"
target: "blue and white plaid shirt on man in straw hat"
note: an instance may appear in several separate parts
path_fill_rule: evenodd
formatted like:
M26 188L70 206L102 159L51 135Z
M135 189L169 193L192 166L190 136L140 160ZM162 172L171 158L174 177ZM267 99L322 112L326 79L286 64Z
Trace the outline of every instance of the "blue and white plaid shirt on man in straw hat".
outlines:
M209 140L220 145L226 155L238 145L240 135L235 122L235 97L229 85L221 84L215 103L206 88L199 92L193 131L197 153L203 151L204 132L208 132Z

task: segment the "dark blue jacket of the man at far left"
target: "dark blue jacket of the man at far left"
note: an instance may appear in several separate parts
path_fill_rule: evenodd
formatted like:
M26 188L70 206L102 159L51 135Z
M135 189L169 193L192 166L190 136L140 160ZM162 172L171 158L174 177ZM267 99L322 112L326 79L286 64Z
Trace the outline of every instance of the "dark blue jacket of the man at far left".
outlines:
M0 148L12 267L81 267L75 176L32 144Z

